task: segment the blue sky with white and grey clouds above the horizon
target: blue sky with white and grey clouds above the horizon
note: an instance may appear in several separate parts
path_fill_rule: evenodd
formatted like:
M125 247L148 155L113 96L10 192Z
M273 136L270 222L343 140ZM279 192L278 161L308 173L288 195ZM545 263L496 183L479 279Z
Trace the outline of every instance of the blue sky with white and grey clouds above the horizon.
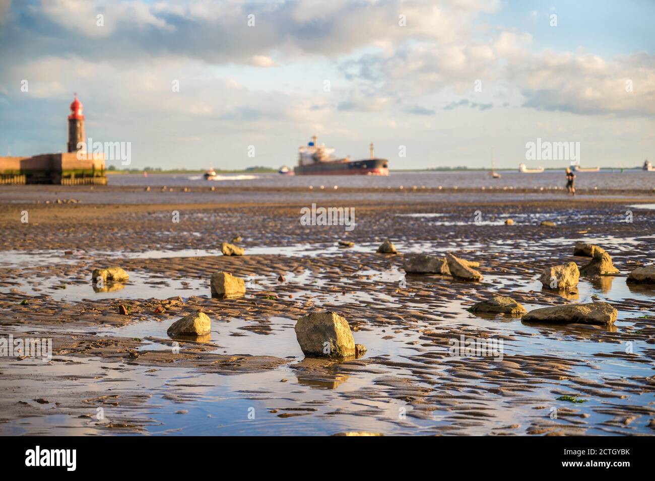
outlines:
M655 162L655 2L0 0L0 156L130 143L130 168ZM179 86L179 88L176 88ZM120 162L111 162L121 167Z

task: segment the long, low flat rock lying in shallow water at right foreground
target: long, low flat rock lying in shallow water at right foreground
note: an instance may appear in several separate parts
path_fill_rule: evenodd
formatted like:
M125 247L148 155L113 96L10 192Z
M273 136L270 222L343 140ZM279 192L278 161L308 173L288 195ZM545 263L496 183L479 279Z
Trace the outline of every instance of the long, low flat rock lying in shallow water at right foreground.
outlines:
M611 325L616 321L617 310L607 302L589 302L589 304L566 304L530 311L523 316L527 322L544 323L581 323Z

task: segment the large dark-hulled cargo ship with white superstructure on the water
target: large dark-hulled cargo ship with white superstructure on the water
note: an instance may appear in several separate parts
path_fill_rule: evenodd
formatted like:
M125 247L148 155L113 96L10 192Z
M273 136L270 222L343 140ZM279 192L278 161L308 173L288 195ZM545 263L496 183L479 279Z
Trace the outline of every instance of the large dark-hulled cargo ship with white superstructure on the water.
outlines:
M295 175L389 175L389 161L376 158L371 142L371 158L350 160L350 157L333 156L335 149L316 143L316 135L298 148L298 165Z

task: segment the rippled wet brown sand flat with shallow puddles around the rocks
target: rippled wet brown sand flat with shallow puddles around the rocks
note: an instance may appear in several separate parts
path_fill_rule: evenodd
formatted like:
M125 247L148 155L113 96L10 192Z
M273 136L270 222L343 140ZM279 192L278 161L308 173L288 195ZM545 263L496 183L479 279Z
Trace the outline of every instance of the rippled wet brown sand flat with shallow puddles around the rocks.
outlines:
M31 187L0 190L0 337L52 338L53 357L0 358L1 434L655 433L655 287L626 283L655 259L655 211L627 207L652 204L649 192ZM355 207L356 228L301 225L308 202ZM237 235L246 255L220 255ZM375 253L385 238L399 255ZM604 247L620 276L581 278L567 296L541 289L546 266L588 260L572 255L578 240ZM405 276L404 255L419 252L477 260L485 277ZM109 265L130 281L96 293L91 272ZM219 270L244 277L246 296L210 298ZM528 310L606 300L618 321L466 310L493 293ZM166 336L198 309L207 338ZM343 315L367 352L305 359L293 325L316 309ZM452 357L462 334L502 339L502 360Z

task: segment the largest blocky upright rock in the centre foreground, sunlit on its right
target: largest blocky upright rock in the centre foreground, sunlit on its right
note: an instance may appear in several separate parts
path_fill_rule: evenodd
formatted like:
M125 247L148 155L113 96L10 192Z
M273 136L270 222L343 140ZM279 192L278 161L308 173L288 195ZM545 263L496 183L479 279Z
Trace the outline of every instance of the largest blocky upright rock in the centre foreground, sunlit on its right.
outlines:
M295 336L309 357L355 355L355 341L348 321L335 312L314 312L295 323ZM326 344L327 343L327 344Z

